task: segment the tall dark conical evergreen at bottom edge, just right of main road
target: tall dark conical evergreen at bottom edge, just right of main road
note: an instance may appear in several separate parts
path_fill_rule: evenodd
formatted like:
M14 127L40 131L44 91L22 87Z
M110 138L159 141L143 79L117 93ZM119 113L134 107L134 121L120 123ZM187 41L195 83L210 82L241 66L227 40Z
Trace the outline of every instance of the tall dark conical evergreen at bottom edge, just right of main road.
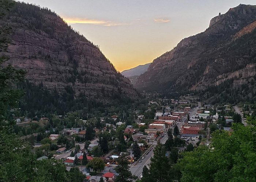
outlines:
M165 146L158 140L154 149L154 157L151 158L150 162L151 181L170 181L170 164L165 154Z

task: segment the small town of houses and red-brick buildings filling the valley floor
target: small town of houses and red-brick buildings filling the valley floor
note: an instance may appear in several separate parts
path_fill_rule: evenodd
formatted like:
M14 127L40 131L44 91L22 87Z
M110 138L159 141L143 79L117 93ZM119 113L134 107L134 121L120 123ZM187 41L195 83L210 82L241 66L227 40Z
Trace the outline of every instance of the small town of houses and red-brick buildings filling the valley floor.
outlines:
M46 117L38 121L17 118L16 126L26 128L26 131L27 126L38 123L47 126L52 122L57 126L20 137L31 143L37 160L60 159L68 171L78 167L90 182L99 182L101 178L104 182L112 182L118 176L118 159L124 155L132 175L141 179L143 167L150 164L158 142L170 150L166 151L166 157L177 162L176 155L184 151L192 151L200 145L211 149L211 133L215 130L231 133L233 122L246 125L244 117L240 116L244 108L230 104L202 104L194 96L182 98L150 100L137 110L115 113L109 118L75 119L75 113L57 115L52 121ZM58 125L69 119L74 119L73 126L79 127ZM23 129L18 135L23 135Z

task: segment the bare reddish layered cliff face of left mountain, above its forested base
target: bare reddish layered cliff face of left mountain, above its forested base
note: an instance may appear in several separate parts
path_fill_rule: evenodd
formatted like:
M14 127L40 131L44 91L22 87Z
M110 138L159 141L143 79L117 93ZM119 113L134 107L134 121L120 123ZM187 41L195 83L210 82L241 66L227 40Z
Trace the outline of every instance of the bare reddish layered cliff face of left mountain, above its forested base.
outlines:
M26 78L36 85L62 92L70 86L75 95L104 98L119 92L129 98L137 94L128 79L117 72L97 46L74 31L59 16L25 3L16 3L7 19L12 43L7 52L16 68L27 70ZM103 90L103 91L102 91Z

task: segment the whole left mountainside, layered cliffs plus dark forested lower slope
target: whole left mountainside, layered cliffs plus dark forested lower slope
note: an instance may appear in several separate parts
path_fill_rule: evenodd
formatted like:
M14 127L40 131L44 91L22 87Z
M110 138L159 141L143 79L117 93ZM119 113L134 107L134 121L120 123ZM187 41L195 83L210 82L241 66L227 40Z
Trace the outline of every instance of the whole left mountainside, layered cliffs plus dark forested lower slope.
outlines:
M128 79L117 72L97 45L68 26L48 8L26 3L14 6L0 20L11 27L10 44L1 55L26 70L22 108L28 112L85 112L138 99Z

